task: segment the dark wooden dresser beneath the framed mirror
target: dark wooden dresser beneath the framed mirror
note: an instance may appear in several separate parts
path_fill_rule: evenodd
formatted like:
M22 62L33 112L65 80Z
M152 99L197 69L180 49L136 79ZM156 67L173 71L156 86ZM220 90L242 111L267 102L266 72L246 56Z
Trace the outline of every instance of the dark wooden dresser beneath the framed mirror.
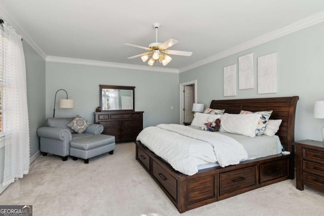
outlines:
M102 134L115 136L116 142L135 141L143 129L143 112L95 112L95 123L102 124Z

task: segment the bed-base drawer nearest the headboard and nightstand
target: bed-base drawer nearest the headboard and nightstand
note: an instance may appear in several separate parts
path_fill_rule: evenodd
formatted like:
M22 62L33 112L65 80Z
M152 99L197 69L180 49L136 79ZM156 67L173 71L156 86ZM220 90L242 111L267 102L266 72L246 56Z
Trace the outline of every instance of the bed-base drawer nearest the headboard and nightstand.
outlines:
M288 160L279 160L260 165L260 184L288 176Z

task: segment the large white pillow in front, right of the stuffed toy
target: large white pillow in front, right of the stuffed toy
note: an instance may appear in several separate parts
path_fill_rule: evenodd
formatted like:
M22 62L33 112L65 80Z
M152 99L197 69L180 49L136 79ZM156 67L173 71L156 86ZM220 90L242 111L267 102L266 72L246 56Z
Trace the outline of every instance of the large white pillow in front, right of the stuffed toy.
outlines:
M260 117L261 115L257 113L249 115L224 114L221 117L219 131L255 137L255 129L258 126Z

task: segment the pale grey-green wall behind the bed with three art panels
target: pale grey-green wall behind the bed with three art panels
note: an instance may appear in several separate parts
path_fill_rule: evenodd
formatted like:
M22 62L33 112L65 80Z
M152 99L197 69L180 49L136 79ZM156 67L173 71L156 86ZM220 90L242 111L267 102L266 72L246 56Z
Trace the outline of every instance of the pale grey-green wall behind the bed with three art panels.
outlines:
M197 79L198 103L210 105L213 99L299 96L295 140L321 140L324 119L313 117L313 104L324 100L324 23L272 40L244 52L180 73L179 81ZM275 94L257 93L257 57L277 52L278 89ZM238 90L236 96L223 97L223 67L238 64L238 57L254 53L254 84L251 90ZM237 71L237 70L236 70Z

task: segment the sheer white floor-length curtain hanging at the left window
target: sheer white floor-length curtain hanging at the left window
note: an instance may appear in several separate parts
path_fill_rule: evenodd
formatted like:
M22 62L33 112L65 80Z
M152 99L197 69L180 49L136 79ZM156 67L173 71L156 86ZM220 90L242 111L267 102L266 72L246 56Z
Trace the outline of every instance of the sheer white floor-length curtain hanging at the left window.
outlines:
M22 178L29 170L29 125L25 57L21 36L4 26L3 131L5 171L2 186Z

